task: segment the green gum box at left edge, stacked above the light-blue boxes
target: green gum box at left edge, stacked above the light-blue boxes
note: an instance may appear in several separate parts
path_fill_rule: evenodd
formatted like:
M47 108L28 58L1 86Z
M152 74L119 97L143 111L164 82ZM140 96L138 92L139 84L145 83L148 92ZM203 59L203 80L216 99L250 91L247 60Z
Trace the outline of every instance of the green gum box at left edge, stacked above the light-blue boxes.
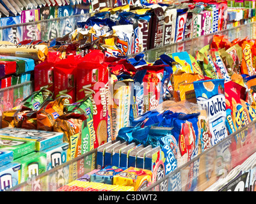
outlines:
M17 159L31 152L35 152L35 143L35 141L0 136L0 151L10 150L13 152L13 159Z

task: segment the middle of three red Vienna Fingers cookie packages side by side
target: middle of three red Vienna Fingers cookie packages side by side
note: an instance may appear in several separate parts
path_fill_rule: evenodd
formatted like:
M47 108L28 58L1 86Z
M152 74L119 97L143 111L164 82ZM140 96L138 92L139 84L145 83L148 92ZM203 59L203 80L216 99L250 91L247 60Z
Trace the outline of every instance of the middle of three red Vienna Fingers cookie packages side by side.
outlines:
M76 68L81 58L81 55L68 55L54 66L54 98L67 96L65 106L76 102Z

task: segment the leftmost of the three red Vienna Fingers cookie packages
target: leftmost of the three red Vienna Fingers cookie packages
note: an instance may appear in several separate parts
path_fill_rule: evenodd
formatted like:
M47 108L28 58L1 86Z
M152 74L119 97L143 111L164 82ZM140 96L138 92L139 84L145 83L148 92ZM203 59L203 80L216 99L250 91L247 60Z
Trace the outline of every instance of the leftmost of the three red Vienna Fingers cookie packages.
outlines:
M37 64L34 69L35 75L35 91L39 91L43 87L43 98L52 96L54 92L54 64L61 61L59 52L49 52L48 59L40 64Z

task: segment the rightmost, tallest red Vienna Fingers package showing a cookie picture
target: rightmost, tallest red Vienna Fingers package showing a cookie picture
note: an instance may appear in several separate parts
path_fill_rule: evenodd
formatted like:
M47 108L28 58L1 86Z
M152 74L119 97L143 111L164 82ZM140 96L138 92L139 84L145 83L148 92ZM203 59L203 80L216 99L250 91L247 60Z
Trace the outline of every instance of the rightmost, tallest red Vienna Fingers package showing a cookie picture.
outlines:
M100 50L92 50L77 64L77 101L90 95L93 104L94 148L108 142L108 64Z

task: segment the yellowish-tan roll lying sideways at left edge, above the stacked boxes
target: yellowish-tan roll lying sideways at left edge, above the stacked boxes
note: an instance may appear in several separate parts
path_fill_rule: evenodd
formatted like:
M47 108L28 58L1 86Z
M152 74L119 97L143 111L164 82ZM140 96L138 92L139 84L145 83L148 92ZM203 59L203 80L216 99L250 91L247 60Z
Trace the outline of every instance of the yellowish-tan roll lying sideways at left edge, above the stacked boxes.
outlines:
M46 45L0 45L1 55L11 55L44 61L48 53Z

